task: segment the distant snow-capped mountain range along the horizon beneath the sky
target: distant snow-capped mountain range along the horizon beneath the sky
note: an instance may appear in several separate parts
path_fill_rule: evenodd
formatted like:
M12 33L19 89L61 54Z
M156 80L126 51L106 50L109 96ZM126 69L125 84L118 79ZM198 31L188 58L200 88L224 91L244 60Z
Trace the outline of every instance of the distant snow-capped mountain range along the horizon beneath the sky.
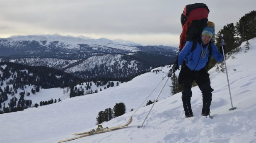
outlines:
M15 35L0 38L0 56L79 54L79 53L124 53L124 52L177 52L177 47L163 45L143 46L129 40L92 39L70 35Z

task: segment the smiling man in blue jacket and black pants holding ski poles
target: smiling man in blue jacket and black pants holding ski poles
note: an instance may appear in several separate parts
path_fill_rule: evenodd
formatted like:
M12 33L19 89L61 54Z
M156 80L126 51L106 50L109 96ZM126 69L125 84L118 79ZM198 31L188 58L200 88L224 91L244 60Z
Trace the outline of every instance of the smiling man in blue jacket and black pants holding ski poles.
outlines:
M201 115L208 116L210 114L213 89L210 86L209 74L205 68L209 56L209 45L212 47L211 55L213 58L218 62L223 61L222 48L220 48L221 52L219 52L217 47L210 41L214 36L213 33L214 32L211 28L204 28L200 37L196 41L196 48L193 52L191 52L193 41L187 41L186 45L179 53L174 67L169 70L168 73L168 77L171 77L171 74L174 73L182 63L179 73L179 84L182 86L181 99L186 118L193 117L190 100L192 97L192 82L194 80L203 94L203 108ZM225 46L224 40L221 40L220 46Z

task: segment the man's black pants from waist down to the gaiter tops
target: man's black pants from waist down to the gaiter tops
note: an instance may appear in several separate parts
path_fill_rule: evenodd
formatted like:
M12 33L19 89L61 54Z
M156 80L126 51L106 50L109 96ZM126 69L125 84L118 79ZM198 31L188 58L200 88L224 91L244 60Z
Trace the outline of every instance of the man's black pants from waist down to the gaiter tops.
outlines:
M182 85L182 95L191 97L192 96L192 82L196 81L199 89L203 94L203 102L204 101L212 101L212 87L210 86L210 77L209 73L205 68L201 70L190 70L188 66L184 63L181 67L181 71L179 73L179 84Z

